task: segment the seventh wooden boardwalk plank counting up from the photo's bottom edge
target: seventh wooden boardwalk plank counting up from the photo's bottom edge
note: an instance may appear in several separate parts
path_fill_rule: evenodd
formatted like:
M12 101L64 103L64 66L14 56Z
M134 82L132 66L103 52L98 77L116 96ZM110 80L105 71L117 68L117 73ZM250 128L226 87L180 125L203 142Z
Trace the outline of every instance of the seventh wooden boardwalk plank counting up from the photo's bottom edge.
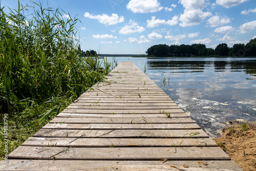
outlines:
M65 112L61 112L57 115L57 117L79 117L79 118L122 118L122 117L126 117L126 118L135 118L138 117L139 114L81 114L81 113L65 113ZM141 116L141 115L139 115ZM143 117L147 117L147 118L166 118L167 116L165 114L142 114ZM171 118L184 118L184 117L188 117L187 114L185 113L179 113L179 114L170 114Z

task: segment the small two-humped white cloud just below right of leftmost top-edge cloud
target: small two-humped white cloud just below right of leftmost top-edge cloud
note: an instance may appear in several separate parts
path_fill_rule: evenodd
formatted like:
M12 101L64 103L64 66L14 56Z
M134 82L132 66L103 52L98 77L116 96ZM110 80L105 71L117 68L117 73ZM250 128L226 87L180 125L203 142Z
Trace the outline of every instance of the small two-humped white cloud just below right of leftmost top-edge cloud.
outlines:
M153 28L160 25L174 26L178 24L178 18L178 16L174 16L172 19L166 21L165 19L156 19L155 16L152 16L151 19L146 20L146 23L148 28Z

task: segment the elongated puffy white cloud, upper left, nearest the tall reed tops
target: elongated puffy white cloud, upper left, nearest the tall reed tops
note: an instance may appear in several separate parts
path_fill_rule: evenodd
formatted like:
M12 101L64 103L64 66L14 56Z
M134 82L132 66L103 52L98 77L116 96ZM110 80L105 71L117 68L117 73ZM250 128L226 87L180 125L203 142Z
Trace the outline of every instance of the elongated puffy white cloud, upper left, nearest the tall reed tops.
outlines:
M112 14L112 16L102 14L102 15L92 15L89 12L84 13L84 17L97 19L99 23L104 24L106 26L116 25L118 23L124 22L123 16L118 16L117 14Z

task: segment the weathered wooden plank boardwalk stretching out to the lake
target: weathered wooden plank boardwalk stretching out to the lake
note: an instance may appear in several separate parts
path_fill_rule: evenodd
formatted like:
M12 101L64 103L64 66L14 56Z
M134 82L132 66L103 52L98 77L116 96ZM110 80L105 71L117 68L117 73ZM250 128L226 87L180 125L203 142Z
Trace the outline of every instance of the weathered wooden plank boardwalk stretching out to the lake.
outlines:
M242 170L133 62L121 62L1 170Z

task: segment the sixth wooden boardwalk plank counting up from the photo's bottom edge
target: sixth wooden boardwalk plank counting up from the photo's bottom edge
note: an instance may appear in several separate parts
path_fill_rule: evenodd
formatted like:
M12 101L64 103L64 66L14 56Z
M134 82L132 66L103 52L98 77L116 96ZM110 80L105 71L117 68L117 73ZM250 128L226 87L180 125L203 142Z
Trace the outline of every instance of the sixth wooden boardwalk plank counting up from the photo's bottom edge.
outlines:
M135 118L62 118L55 117L50 123L136 123L145 124L146 120L148 123L195 123L191 118L143 118L138 116Z

